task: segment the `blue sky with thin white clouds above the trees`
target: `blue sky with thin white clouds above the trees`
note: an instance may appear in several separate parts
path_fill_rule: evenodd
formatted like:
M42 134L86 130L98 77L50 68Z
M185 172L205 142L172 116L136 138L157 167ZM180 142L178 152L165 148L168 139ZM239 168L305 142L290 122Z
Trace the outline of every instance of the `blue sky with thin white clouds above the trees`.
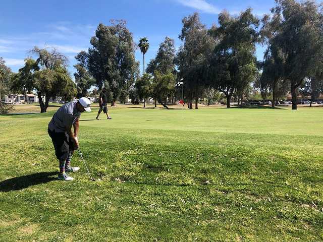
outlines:
M274 0L10 0L3 1L0 10L0 56L17 72L24 64L28 50L33 46L53 46L69 56L69 70L74 73L74 56L87 50L90 38L99 23L108 25L110 19L124 19L133 33L134 41L147 37L150 49L146 64L153 58L158 45L166 36L181 42L183 17L197 11L201 21L208 27L217 23L218 14L226 9L232 14L251 7L262 16L274 7ZM257 57L262 59L264 48L257 48ZM142 55L136 51L142 72Z

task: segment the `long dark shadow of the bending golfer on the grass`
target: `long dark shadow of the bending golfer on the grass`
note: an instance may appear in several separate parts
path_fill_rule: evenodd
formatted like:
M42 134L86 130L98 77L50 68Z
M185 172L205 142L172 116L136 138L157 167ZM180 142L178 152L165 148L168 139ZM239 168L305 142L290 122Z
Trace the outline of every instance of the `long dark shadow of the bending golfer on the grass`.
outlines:
M48 183L51 180L57 180L57 177L53 175L57 175L57 172L39 172L3 180L0 181L0 192L22 190L30 186Z

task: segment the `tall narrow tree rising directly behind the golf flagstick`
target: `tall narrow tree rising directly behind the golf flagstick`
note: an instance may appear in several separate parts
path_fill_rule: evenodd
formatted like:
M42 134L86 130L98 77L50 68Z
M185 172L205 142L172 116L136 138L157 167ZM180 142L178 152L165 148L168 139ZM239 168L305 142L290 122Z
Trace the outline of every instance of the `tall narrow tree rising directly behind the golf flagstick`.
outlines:
M207 34L205 25L200 22L198 13L183 18L182 25L179 38L183 45L177 53L176 64L179 70L178 78L184 78L184 94L191 109L192 99L195 99L197 104L197 99L205 89L205 64L213 41Z

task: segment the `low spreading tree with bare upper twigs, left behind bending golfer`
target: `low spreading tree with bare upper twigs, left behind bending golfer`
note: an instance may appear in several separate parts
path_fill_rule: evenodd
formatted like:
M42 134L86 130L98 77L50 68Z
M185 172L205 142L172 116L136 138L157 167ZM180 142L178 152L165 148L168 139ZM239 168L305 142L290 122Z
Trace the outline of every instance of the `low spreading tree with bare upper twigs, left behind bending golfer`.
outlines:
M71 100L77 90L66 67L67 57L56 49L34 47L31 52L37 55L36 61L25 60L25 66L13 76L12 89L23 93L35 90L41 112L46 112L50 98Z

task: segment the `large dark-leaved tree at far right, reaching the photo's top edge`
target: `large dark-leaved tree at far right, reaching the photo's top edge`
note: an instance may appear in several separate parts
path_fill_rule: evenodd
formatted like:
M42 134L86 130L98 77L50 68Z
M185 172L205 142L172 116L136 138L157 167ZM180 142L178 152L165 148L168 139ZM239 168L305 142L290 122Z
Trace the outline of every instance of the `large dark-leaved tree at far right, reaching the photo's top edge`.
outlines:
M282 79L290 82L292 109L297 109L297 89L321 62L322 14L315 2L295 0L276 0L271 12L263 18L262 33L274 59L277 54L282 59Z

